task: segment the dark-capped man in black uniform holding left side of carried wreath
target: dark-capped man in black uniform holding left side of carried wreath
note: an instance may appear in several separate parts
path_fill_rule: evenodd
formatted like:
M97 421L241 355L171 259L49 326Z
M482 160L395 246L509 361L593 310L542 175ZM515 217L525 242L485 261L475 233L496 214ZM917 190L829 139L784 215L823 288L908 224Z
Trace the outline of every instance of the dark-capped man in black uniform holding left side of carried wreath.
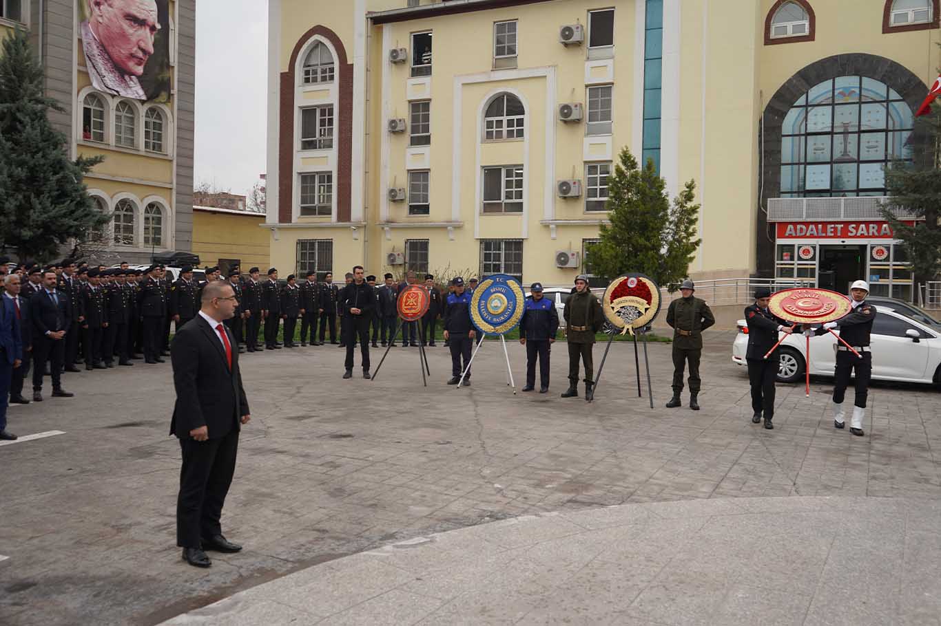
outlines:
M781 355L775 350L766 360L764 355L774 348L778 333L799 333L800 326L793 326L768 310L771 290L759 287L755 290L755 304L745 307L745 322L748 324L748 350L745 360L748 362L748 383L752 388L752 422L761 422L762 413L765 428L774 429L774 381Z

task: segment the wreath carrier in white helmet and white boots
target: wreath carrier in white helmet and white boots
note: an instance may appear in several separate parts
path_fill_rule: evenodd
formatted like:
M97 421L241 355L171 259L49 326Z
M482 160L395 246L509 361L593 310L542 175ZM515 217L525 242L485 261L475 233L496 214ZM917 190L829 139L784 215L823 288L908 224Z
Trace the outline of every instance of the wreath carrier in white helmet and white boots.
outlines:
M872 332L872 322L876 320L876 307L866 302L869 295L869 284L865 280L857 280L850 288L853 296L853 310L849 315L838 321L828 321L822 328L816 329L815 334L820 336L829 334L829 329L838 328L839 336L853 350L859 352L859 358L842 343L837 344L837 368L835 370L836 382L833 386L833 425L834 428L845 428L843 419L843 399L846 396L846 387L855 370L855 397L853 399L853 421L850 422L850 432L857 437L866 434L863 431L863 417L866 416L866 400L869 398L869 379L872 376L872 352L869 350L869 334Z

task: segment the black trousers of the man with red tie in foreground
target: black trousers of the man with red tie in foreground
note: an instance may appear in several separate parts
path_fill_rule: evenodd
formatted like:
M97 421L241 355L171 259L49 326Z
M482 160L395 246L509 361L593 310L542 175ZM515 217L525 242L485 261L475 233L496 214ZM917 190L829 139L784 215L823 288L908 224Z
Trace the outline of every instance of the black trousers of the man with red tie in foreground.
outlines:
M199 548L203 537L222 534L222 505L238 453L238 430L208 441L181 439L183 467L177 497L177 545Z

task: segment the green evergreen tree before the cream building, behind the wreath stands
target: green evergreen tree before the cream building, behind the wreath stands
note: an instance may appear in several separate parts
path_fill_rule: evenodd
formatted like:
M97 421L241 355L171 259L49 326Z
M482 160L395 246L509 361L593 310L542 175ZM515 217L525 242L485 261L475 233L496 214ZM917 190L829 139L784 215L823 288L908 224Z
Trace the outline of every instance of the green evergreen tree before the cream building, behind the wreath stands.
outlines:
M695 239L699 212L695 182L687 182L672 204L665 187L651 160L641 168L630 149L621 150L608 179L611 225L601 225L601 241L589 250L594 274L613 278L636 272L664 286L687 276L702 243Z

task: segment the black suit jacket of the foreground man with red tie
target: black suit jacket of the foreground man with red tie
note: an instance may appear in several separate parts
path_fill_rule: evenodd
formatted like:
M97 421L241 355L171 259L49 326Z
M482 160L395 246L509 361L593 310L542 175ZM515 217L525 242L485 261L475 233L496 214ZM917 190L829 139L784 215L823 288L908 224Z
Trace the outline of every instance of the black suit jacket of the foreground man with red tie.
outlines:
M215 328L197 315L183 325L170 345L176 404L170 420L170 434L189 439L189 431L205 426L210 439L240 430L239 419L249 415L248 400L238 366L238 344L223 324L232 347L232 367L226 362Z

